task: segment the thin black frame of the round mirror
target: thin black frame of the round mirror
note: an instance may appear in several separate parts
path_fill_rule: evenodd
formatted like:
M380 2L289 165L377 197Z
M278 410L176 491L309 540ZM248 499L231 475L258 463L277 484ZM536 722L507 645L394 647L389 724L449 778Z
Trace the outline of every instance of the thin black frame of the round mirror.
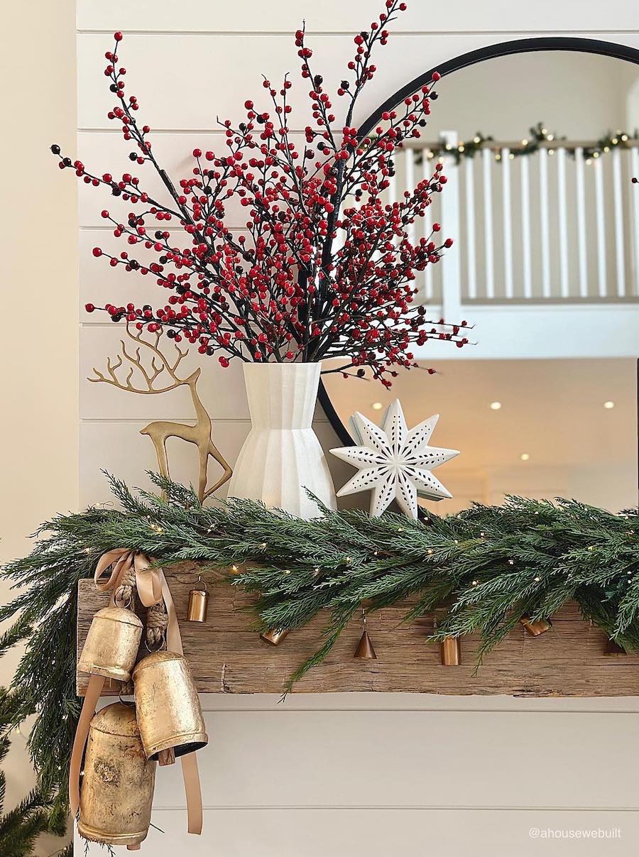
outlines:
M451 75L454 71L465 69L469 65L483 63L487 59L508 57L511 54L528 53L531 51L579 51L581 53L600 54L604 57L621 59L626 63L639 65L639 50L629 45L618 45L616 42L606 42L600 39L544 36L534 39L512 39L508 42L499 42L496 45L486 45L483 48L478 48L476 51L469 51L459 57L455 57L455 59L440 63L434 69L428 69L422 75L416 77L415 80L410 81L404 87L397 90L397 93L386 99L384 104L379 105L377 110L361 125L359 135L361 137L366 136L379 122L379 117L384 111L390 111L400 101L403 101L408 95L415 93L424 83L430 81L433 71L439 71L439 74L444 77L445 75ZM342 441L344 446L353 446L354 440L350 437L348 429L342 423L337 411L333 407L323 381L320 381L318 399L339 440Z

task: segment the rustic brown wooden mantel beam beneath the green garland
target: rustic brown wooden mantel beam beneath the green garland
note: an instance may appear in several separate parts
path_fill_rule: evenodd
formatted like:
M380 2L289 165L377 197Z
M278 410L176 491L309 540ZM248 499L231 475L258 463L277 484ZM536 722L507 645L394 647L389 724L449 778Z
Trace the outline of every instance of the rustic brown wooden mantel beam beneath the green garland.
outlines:
M265 643L252 628L246 609L250 596L225 583L209 587L205 624L187 622L188 592L194 566L165 570L180 618L184 654L200 692L278 693L288 676L322 642L325 617L292 632L279 646ZM93 580L79 584L77 648L81 651L93 614L109 603ZM566 605L553 617L552 629L532 638L523 628L511 632L475 672L477 638L463 638L462 665L444 667L439 645L426 641L433 617L401 624L407 605L385 608L368 618L376 661L353 658L361 624L347 627L326 661L296 684L296 692L423 692L453 695L506 694L534 697L634 696L639 694L639 655L603 655L605 636ZM140 614L143 618L143 614ZM146 654L144 645L140 657ZM84 694L88 676L77 675ZM116 693L117 688L106 688Z

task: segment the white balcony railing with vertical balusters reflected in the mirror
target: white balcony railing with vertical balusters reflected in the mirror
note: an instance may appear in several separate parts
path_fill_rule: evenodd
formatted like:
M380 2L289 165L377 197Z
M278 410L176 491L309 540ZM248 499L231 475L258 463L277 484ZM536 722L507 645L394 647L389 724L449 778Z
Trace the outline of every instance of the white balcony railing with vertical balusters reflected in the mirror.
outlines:
M457 134L442 141L457 149ZM433 144L431 144L432 146ZM520 143L491 142L457 165L445 162L448 182L433 196L412 237L455 244L439 265L420 275L421 297L457 317L478 303L634 302L639 299L639 142L584 158L594 143L554 141L514 157ZM397 153L390 201L433 171L425 142Z

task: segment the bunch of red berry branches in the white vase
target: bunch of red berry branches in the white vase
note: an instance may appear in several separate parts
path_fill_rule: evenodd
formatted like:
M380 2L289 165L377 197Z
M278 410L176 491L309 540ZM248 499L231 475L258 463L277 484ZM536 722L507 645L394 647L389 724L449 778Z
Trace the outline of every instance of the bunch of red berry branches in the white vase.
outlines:
M304 30L296 32L302 80L308 81L312 123L304 132L303 149L289 128L291 82L281 87L263 81L271 108L244 103L246 120L224 129L225 153L194 149L190 177L174 183L158 164L149 140L150 129L135 118L139 109L126 92L118 57L122 33L105 54L105 75L116 105L108 112L119 123L135 166L151 165L163 185L162 199L144 190L130 172L118 178L87 171L51 150L61 168L75 169L77 177L94 187L104 186L130 204L122 222L108 209L102 217L113 234L128 244L119 255L96 247L93 255L111 267L150 275L170 294L164 306L152 309L135 303L101 309L113 321L122 319L139 330L165 332L170 339L187 339L201 354L218 353L223 366L232 357L245 361L320 361L343 357L338 371L355 369L390 385L397 367L410 368L411 345L445 339L462 347L466 323L445 325L427 321L426 309L415 305L415 276L436 264L452 241L438 241L439 225L429 237L409 241L410 225L424 216L433 194L445 185L443 165L401 201L385 201L394 172L393 155L403 141L420 136L431 101L433 84L421 87L396 109L385 112L374 133L361 137L353 115L362 89L373 79L373 48L385 45L386 27L405 3L386 0L385 11L370 29L355 36L355 56L337 89L347 103L345 118L337 123L331 96L321 75L311 70L313 51ZM239 201L247 221L241 232L231 231L230 201ZM168 224L179 226L170 231ZM187 246L178 242L186 232ZM152 261L135 258L140 249ZM146 254L148 255L148 254ZM337 370L336 370L337 371Z

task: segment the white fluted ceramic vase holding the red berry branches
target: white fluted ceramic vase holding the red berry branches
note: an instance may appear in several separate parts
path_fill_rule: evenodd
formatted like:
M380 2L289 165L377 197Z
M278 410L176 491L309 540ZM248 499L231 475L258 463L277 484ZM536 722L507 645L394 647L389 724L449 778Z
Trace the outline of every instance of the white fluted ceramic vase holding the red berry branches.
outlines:
M262 500L299 518L337 508L320 441L311 427L321 363L244 363L251 431L237 457L230 497Z

